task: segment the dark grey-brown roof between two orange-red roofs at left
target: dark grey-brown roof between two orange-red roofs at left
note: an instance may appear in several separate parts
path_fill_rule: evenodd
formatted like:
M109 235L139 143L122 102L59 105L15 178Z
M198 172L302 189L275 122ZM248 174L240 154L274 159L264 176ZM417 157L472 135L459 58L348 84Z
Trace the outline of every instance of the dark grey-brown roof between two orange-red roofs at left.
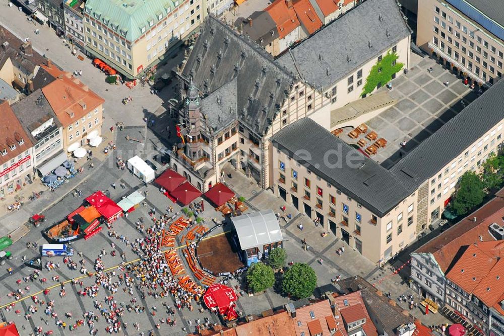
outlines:
M20 102L12 105L11 108L16 114L16 117L20 120L21 125L30 139L32 139L33 143L37 143L37 140L31 135L31 132L40 127L40 125L50 118L53 118L54 124L57 127L61 126L61 123L58 118L56 118L56 114L52 110L51 105L44 97L42 90L40 89L36 90Z

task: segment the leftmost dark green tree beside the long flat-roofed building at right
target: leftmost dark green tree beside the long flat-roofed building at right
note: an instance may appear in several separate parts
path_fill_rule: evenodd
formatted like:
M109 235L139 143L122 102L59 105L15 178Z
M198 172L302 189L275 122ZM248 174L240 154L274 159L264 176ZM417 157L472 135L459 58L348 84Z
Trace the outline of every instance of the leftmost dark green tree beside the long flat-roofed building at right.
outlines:
M465 215L469 210L481 204L485 198L484 189L478 175L472 171L464 173L453 201L453 209L457 215Z

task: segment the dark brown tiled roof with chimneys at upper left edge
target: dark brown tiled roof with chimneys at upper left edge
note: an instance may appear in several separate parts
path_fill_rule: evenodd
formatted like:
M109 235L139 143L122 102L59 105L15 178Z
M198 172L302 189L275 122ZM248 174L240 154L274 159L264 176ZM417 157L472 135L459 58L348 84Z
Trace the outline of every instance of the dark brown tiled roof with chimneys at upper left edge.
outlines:
M0 68L4 66L9 57L21 63L29 73L33 73L37 65L45 62L45 58L35 50L30 55L21 52L21 45L25 42L17 38L5 27L0 26L0 45L3 45L4 42L9 42L9 46L0 46Z

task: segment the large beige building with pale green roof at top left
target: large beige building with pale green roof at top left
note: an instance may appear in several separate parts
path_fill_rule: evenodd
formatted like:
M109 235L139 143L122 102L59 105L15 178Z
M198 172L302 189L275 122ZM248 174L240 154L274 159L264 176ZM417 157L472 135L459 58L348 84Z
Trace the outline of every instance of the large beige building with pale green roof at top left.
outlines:
M84 8L86 49L124 76L138 78L197 30L205 15L201 0L90 0Z

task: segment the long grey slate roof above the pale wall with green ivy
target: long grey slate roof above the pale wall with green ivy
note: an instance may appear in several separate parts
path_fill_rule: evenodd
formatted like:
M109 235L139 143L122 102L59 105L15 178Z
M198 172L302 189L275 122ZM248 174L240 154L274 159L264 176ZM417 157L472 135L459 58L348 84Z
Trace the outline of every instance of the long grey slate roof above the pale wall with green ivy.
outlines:
M325 90L409 35L395 0L367 0L277 61Z

